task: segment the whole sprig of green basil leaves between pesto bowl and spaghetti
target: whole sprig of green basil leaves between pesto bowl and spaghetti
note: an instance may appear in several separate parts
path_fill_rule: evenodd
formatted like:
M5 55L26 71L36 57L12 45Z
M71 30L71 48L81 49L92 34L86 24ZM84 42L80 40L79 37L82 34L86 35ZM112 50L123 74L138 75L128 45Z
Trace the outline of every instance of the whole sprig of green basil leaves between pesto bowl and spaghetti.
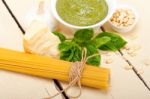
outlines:
M72 41L66 41L65 36L59 32L54 32L60 40L59 44L60 59L70 62L81 61L82 49L87 49L87 57L99 54L98 48L104 51L117 51L126 45L126 41L117 34L103 32L94 39L92 29L78 30L74 34ZM89 65L99 66L101 64L101 55L93 56L86 62Z

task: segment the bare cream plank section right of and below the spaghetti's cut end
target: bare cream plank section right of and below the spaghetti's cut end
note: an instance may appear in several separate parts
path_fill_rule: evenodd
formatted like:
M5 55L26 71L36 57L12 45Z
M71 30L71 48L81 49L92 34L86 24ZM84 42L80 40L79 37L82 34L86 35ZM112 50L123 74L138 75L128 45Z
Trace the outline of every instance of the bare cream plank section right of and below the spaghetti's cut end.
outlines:
M102 59L102 66L111 69L110 89L108 92L103 92L84 87L79 99L149 99L149 91L139 78L133 71L124 69L127 63L121 56L112 53L111 56L102 55ZM107 59L112 59L113 63L105 64ZM64 84L63 86L65 88L67 85ZM74 94L77 92L73 88L69 93Z

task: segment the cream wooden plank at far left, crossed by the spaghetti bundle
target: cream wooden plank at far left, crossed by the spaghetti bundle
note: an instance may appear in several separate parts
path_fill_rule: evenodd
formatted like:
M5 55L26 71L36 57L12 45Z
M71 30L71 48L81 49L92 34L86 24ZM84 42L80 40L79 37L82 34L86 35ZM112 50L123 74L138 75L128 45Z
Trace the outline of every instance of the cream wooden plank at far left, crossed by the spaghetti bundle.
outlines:
M0 9L0 47L23 51L23 35L1 1ZM48 96L45 88L58 92L51 80L0 70L0 99L42 99Z

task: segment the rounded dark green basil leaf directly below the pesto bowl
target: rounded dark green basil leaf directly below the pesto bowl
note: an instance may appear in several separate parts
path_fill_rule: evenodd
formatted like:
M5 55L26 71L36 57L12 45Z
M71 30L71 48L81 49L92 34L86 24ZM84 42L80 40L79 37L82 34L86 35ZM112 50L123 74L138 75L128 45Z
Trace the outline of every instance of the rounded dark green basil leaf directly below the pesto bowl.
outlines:
M75 32L73 40L78 44L83 44L90 41L93 36L93 29L82 29Z

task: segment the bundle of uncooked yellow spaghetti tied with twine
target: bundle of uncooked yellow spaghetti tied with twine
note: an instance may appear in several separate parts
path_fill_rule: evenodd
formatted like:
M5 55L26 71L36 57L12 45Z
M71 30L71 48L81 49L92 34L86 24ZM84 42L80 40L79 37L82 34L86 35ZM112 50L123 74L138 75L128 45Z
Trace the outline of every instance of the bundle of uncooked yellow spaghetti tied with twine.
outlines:
M0 48L0 69L2 70L68 82L71 64L71 62L46 56ZM86 65L81 84L106 90L109 87L109 73L109 69Z

